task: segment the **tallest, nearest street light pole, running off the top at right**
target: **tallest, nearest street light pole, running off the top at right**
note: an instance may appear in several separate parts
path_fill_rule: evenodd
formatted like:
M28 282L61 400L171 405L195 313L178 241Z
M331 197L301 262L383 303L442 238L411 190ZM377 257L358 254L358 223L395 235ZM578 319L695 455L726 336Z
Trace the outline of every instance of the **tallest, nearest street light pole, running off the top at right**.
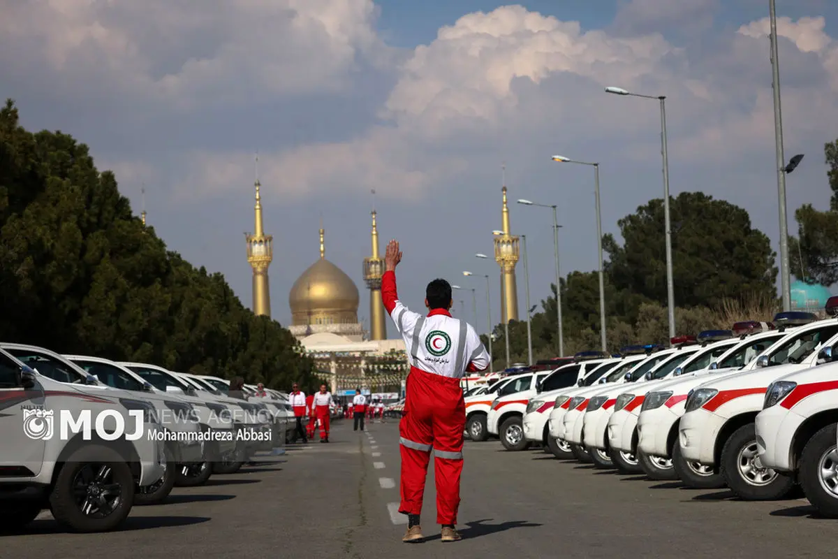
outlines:
M777 58L777 13L774 0L768 0L771 18L771 70L774 94L774 143L777 152L777 197L780 212L780 284L783 310L791 310L791 277L789 272L789 225L786 216L785 157L783 154L783 113L780 109L780 68Z

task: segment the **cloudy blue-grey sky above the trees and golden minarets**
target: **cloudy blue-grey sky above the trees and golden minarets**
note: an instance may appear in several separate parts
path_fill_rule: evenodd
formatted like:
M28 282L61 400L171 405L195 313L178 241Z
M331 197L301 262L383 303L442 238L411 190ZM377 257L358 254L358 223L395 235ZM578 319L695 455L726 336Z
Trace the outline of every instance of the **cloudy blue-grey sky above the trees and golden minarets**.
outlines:
M0 0L0 12L0 95L23 125L88 144L137 214L144 184L158 236L249 307L259 153L283 324L322 220L369 325L374 203L381 251L401 241L409 307L445 277L477 289L484 331L486 283L468 270L491 277L497 322L499 268L474 254L493 250L504 164L532 302L555 278L551 214L515 199L558 205L562 275L596 269L592 169L551 155L601 164L604 233L663 193L658 103L608 85L667 97L672 195L744 207L779 251L767 0ZM787 181L796 234L794 209L830 197L838 3L777 0L777 15L785 155L806 155ZM520 264L517 276L523 310ZM454 298L472 319L471 293Z

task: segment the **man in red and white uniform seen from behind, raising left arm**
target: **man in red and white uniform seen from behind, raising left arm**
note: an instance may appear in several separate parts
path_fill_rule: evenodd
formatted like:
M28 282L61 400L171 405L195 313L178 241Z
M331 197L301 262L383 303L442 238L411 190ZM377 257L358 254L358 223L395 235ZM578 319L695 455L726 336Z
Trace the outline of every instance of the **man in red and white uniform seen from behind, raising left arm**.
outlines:
M410 360L405 411L399 423L401 435L401 505L407 515L402 541L421 541L419 525L427 466L434 453L437 480L437 523L442 541L458 541L455 525L463 474L463 431L466 413L460 378L468 371L486 370L489 354L477 332L463 320L453 318L451 285L442 279L427 285L423 316L408 310L396 293L396 266L401 261L399 243L390 241L381 278L381 298L396 329L405 340Z

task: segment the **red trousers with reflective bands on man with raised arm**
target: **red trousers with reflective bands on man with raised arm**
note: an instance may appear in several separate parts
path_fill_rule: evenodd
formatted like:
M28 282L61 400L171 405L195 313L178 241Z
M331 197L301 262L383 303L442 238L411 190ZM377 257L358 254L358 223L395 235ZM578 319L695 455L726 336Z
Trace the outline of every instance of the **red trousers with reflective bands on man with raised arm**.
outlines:
M401 506L404 515L422 513L427 466L434 453L437 524L457 524L463 474L466 412L459 379L411 367L407 377L401 434Z

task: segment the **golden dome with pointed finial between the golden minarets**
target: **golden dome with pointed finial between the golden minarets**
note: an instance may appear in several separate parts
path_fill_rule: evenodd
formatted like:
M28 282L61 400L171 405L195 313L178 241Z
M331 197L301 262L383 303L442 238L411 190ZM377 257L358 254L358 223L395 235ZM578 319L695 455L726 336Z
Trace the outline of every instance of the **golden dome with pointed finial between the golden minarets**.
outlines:
M358 323L359 302L352 279L324 257L321 229L320 259L297 277L288 294L292 324Z

